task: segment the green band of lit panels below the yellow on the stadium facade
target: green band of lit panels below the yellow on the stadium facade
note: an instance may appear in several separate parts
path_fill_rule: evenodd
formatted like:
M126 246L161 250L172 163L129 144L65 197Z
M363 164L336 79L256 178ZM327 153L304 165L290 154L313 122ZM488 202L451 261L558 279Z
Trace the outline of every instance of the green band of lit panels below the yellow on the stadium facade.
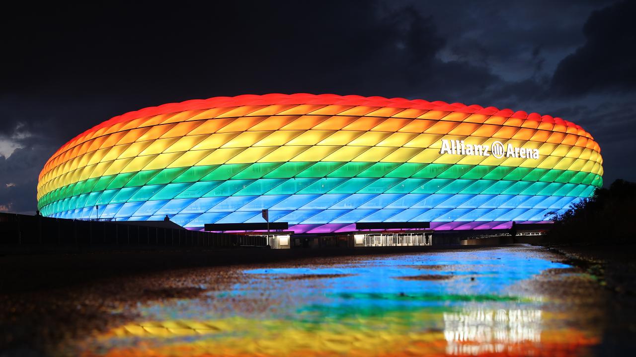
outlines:
M514 182L545 182L550 184L553 182L560 184L584 184L600 187L602 185L602 178L600 175L588 172L574 172L568 170L547 170L539 168L515 168L509 166L483 166L483 165L447 165L447 164L417 164L417 163L371 163L371 162L301 162L301 163L254 163L254 164L230 164L230 165L209 165L209 166L193 166L190 168L166 168L163 170L146 170L141 172L120 173L118 175L108 175L100 177L99 179L88 179L74 184L66 185L55 189L52 192L48 192L38 201L39 208L50 205L55 201L71 198L74 196L80 196L82 194L90 194L91 192L101 192L107 190L120 190L124 187L130 188L127 191L118 191L113 196L113 200L117 202L123 202L124 199L133 199L134 201L140 201L144 198L150 198L156 194L153 189L143 190L139 187L148 185L151 187L158 187L159 185L171 184L170 189L166 191L166 197L170 196L177 188L188 189L193 182L197 182L196 189L192 192L190 197L195 197L195 192L200 193L203 189L212 189L216 186L223 185L219 188L219 192L226 192L226 187L234 187L237 183L227 184L202 184L202 182L219 182L223 180L235 181L235 180L263 180L263 179L287 179L296 177L299 179L391 179L386 183L392 185L386 188L391 191L390 193L406 193L409 187L413 190L417 185L423 185L430 179L435 180L472 180L470 184L466 182L457 182L452 187L462 186L461 193L484 193L491 194L490 192L498 192L508 189L508 185ZM400 179L408 178L408 182L403 182ZM415 180L418 179L418 180ZM502 183L492 185L490 182L502 180ZM359 180L353 180L348 185L355 185ZM401 182L400 187L393 187L393 185ZM434 181L434 183L442 181ZM300 184L301 182L299 182ZM313 183L313 182L312 182ZM427 184L421 191L429 192L432 190L434 183ZM180 184L180 185L176 185ZM188 185L186 185L188 184ZM250 182L251 184L251 182ZM378 182L379 184L379 182ZM447 182L448 184L448 182ZM466 184L466 185L464 185ZM214 185L214 187L211 187ZM135 188L136 187L136 188ZM173 189L172 187L176 187ZM457 191L449 187L446 191ZM536 186L538 187L538 186ZM530 191L536 191L534 194L541 194L539 192L548 192L536 190L536 187ZM553 186L551 186L553 187ZM161 187L163 188L163 187ZM240 187L244 189L245 187ZM303 187L305 189L306 187ZM335 187L334 187L335 188ZM441 188L441 187L439 187ZM134 190L137 191L134 191ZM487 192L476 192L478 189L487 189ZM205 193L209 192L206 191ZM411 190L411 191L413 191ZM562 187L558 187L556 190L560 192L564 191ZM230 190L232 191L232 190ZM263 191L258 189L256 191ZM254 191L254 192L256 192ZM289 192L289 189L281 189L281 192ZM312 189L308 189L312 191ZM349 190L347 189L347 192ZM380 193L377 192L377 188L361 189L364 193ZM386 191L389 193L389 191ZM411 192L408 191L408 192ZM524 192L524 190L520 190ZM265 194L270 194L266 192ZM282 193L279 193L282 194ZM127 196L130 197L127 198ZM149 196L150 195L150 196ZM552 195L558 196L556 193ZM181 193L177 193L175 197L183 197ZM196 196L200 197L200 196Z

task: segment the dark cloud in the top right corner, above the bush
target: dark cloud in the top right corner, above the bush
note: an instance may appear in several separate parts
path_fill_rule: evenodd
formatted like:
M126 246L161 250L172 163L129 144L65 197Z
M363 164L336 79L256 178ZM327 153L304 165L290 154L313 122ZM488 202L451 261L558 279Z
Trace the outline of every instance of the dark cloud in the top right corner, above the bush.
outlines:
M636 2L592 13L583 27L585 44L565 57L553 77L556 91L582 95L636 88Z

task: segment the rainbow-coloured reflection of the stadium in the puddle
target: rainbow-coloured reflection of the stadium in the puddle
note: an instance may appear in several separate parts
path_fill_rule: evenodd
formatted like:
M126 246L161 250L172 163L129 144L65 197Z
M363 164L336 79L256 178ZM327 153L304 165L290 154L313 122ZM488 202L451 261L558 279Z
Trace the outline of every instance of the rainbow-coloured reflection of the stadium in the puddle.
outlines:
M84 356L578 355L598 341L523 285L565 264L510 248L244 269L204 297L140 307Z

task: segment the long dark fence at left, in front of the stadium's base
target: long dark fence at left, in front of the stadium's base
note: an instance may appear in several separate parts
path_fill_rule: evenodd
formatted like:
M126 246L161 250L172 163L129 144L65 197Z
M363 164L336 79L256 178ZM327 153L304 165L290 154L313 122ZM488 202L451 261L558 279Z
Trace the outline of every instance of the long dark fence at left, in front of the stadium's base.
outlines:
M266 238L238 234L189 231L133 222L56 219L0 213L0 245L118 247L233 248L266 246Z

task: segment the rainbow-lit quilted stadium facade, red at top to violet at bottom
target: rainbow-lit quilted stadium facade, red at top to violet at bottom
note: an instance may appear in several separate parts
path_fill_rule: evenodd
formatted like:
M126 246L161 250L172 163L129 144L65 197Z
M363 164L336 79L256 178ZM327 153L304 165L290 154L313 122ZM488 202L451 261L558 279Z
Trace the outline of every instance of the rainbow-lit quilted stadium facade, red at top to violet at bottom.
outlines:
M269 94L149 107L64 144L38 207L67 219L356 222L437 230L543 222L602 185L600 147L561 118L404 98Z

